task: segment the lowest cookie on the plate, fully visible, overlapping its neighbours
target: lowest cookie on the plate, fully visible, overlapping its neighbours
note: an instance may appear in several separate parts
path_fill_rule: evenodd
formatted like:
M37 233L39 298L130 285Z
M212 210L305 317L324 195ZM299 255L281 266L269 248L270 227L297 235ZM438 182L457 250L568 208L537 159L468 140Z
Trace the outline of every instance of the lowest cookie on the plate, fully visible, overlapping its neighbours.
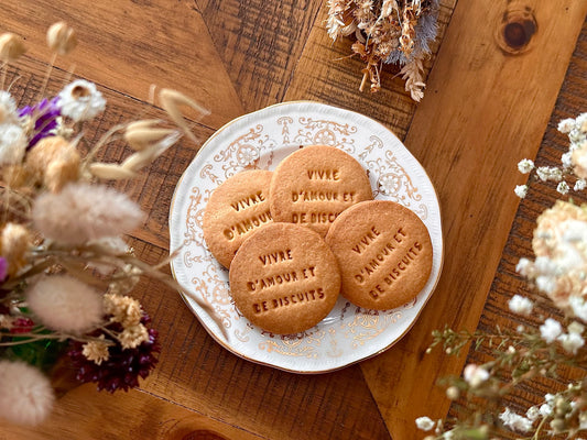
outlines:
M261 329L300 333L322 321L340 292L336 257L309 228L271 223L248 238L230 264L237 308Z

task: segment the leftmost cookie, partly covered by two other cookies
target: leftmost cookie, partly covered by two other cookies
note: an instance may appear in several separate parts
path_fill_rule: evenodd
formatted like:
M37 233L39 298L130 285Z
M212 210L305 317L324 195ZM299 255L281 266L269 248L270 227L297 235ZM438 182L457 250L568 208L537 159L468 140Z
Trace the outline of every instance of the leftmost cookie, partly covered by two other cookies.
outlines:
M271 176L264 169L241 172L211 194L202 229L208 249L222 266L230 266L244 239L272 221L268 200Z

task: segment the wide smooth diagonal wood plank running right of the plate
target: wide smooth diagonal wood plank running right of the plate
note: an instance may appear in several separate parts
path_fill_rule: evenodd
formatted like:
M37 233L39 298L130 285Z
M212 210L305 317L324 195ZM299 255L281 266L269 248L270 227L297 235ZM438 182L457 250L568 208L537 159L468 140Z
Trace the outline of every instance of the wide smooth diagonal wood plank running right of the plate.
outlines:
M422 435L414 419L424 415L424 406L430 417L446 415L449 402L435 385L461 371L465 354L424 355L430 333L445 324L476 327L519 204L515 165L540 146L587 12L585 1L529 3L539 31L526 52L511 56L494 34L513 6L458 2L428 78L433 99L417 108L405 138L438 193L446 255L416 327L361 365L395 439Z

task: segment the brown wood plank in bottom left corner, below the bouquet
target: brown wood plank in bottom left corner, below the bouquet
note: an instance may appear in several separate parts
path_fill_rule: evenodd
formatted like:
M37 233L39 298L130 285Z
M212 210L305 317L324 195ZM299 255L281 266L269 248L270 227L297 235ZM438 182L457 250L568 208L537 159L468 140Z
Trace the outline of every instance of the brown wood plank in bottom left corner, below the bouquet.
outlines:
M79 405L84 402L84 405ZM75 422L72 422L75 420ZM107 421L108 422L105 422ZM81 435L83 433L83 435ZM83 436L83 437L80 437ZM2 425L1 440L22 439L166 439L256 440L238 427L170 404L148 393L131 389L110 395L84 385L57 402L46 424L37 428Z

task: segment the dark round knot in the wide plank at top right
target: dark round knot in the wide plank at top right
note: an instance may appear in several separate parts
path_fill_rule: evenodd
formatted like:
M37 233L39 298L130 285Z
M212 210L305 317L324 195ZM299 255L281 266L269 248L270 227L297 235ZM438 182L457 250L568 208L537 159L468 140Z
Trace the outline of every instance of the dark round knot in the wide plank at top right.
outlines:
M531 47L532 36L537 31L534 12L530 7L512 6L502 16L497 31L499 47L509 55L519 55Z

